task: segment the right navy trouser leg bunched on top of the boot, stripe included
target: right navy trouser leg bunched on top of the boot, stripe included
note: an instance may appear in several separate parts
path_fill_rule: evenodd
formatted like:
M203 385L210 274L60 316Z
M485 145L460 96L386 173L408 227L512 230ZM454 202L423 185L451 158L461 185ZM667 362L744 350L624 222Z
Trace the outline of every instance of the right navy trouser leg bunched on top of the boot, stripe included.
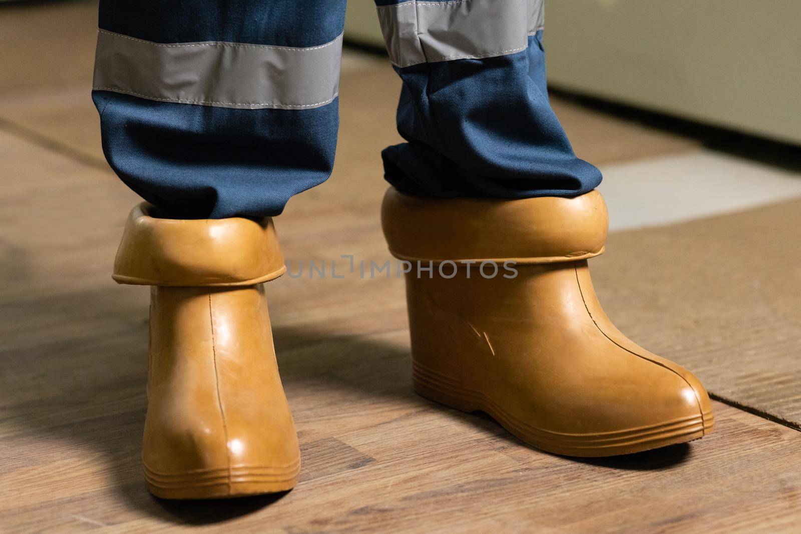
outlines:
M543 0L376 0L403 80L382 153L401 191L439 197L576 196L601 182L548 102Z

